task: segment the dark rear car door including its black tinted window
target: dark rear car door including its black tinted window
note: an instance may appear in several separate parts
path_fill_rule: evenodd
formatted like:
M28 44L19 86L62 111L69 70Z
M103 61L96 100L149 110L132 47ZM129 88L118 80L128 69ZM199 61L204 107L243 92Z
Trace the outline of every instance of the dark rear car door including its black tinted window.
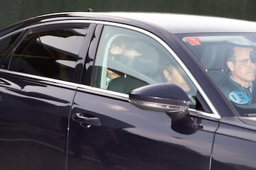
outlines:
M35 26L1 58L1 169L66 169L68 116L89 28Z

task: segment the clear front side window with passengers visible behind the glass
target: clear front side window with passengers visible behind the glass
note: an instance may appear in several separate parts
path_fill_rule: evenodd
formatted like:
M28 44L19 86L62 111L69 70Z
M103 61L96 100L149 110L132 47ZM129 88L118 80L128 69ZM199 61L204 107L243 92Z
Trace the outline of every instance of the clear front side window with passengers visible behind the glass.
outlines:
M98 46L92 86L129 94L148 84L172 83L191 96L196 88L163 45L143 33L105 26Z

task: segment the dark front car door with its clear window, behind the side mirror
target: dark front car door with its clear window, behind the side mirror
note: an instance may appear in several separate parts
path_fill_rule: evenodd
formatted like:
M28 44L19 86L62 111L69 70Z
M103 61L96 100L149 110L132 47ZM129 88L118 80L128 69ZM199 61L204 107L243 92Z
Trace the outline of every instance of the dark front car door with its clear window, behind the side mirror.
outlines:
M113 45L124 49L110 54ZM104 26L95 60L90 55L92 81L78 88L70 115L68 169L209 169L218 115L163 41L139 28ZM129 102L129 91L168 82L187 91L190 115L176 119Z

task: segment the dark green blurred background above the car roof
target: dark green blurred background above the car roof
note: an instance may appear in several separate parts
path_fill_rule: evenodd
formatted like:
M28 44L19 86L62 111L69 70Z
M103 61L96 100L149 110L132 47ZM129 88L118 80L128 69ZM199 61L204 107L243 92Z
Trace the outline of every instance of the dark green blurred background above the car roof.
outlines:
M256 21L256 0L0 0L0 28L62 11L155 11Z

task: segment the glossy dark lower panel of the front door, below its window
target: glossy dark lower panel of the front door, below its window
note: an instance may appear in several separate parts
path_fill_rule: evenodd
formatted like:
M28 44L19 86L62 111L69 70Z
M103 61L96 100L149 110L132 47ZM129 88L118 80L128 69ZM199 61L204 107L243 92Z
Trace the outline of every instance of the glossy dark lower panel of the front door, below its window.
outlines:
M86 91L78 89L70 116L69 169L78 158L87 169L208 169L218 122L188 117L180 126L166 113ZM102 126L75 119L76 113L99 118Z

